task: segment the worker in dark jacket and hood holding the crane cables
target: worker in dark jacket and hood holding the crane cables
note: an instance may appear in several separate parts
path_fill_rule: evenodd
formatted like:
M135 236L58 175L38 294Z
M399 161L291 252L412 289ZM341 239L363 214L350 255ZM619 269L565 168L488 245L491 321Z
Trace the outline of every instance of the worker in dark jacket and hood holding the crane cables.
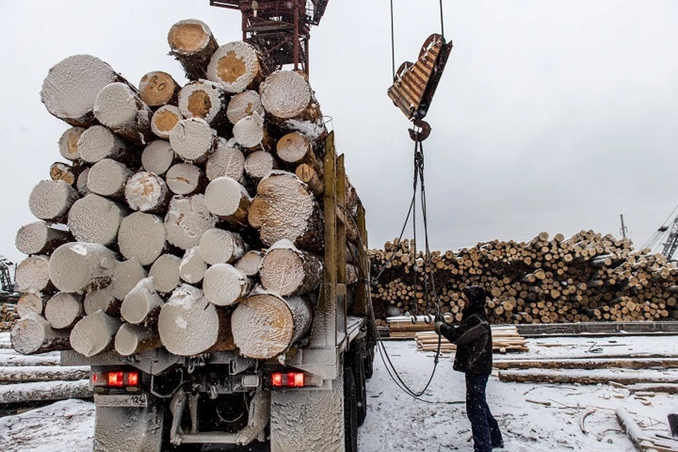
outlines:
M492 330L485 313L487 292L480 286L462 290L466 307L461 325L454 327L436 323L436 333L457 345L453 369L466 377L466 415L471 422L474 452L490 452L504 447L499 424L485 400L487 379L492 373Z

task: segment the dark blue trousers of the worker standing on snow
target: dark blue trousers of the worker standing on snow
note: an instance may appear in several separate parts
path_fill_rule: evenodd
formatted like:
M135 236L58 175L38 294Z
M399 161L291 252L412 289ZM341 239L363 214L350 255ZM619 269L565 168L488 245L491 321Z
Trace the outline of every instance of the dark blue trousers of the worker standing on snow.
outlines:
M485 387L489 375L465 374L466 415L471 422L474 452L491 452L492 447L501 446L499 424L492 416L485 400Z

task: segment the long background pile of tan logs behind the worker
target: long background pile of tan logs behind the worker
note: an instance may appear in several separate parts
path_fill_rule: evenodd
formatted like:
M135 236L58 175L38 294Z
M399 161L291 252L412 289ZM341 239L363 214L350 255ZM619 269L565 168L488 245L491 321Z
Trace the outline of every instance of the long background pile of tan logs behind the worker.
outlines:
M629 239L581 231L565 238L542 232L528 243L481 243L460 251L415 252L403 239L370 251L376 316L441 311L461 319L461 289L490 294L493 323L563 323L678 319L678 270ZM435 283L437 298L430 291ZM429 290L425 290L429 287ZM428 295L426 295L428 294Z

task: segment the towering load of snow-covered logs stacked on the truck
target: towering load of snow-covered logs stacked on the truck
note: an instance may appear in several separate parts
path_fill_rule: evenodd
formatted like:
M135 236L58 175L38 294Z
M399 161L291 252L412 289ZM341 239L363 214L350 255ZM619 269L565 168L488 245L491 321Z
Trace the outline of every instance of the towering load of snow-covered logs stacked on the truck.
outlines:
M264 73L254 47L219 46L199 20L167 40L183 87L162 71L132 85L89 55L44 80L69 163L35 186L40 221L16 236L19 352L269 359L309 332L328 131L307 76ZM345 205L356 215L350 184Z

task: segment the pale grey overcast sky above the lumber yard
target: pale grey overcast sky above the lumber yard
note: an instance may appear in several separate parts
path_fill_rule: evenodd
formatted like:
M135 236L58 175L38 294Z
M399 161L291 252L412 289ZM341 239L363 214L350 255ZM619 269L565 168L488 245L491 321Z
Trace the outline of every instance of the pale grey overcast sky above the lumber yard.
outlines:
M439 32L439 1L393 4L399 66ZM153 70L184 83L167 56L172 24L198 18L220 43L242 37L237 11L208 5L2 2L0 254L21 258L14 237L35 221L30 191L61 160L69 126L40 102L48 69L88 53L135 85ZM629 237L646 242L678 204L678 2L444 0L444 20L454 48L424 142L432 247L541 231L619 236L621 213ZM369 244L381 247L398 236L412 190L409 124L386 95L389 1L329 1L311 32L310 68L367 208Z

